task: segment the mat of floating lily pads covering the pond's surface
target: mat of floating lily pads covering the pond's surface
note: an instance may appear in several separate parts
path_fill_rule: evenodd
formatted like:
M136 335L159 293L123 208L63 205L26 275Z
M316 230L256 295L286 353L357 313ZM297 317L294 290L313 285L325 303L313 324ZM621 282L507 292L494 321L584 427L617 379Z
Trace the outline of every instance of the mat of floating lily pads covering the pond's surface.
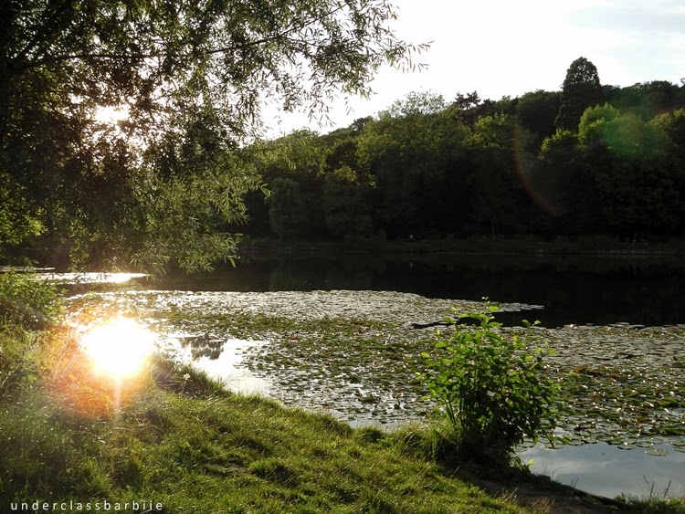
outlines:
M70 299L75 322L135 316L161 334L163 345L180 344L195 359L255 341L240 346L239 366L270 384L262 393L351 425L377 426L431 413L415 372L435 333L411 324L441 320L453 306L466 312L481 304L374 291L128 291ZM531 321L535 309L501 305ZM557 446L605 441L659 456L669 450L652 446L665 443L685 452L685 325L534 330L556 351L547 372L563 385Z

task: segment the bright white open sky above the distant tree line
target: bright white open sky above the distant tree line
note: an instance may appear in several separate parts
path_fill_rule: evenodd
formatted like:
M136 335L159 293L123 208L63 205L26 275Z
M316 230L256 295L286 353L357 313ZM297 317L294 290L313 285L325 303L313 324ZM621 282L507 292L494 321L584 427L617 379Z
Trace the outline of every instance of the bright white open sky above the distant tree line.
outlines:
M481 99L511 98L535 89L561 89L579 57L592 61L602 84L685 77L685 0L392 0L396 35L431 42L416 62L420 73L380 70L372 99L332 104L334 126L319 128L303 114L265 112L270 135L309 127L322 132L385 110L411 91L445 100L478 91ZM277 117L274 119L274 117ZM280 123L278 122L280 118Z

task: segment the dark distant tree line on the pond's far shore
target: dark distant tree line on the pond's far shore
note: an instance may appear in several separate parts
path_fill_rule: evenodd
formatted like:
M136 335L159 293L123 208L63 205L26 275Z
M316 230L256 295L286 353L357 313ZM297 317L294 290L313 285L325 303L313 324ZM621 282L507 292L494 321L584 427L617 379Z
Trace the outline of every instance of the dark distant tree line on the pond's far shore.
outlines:
M685 82L603 86L585 58L560 91L451 103L414 93L377 117L245 150L252 236L294 239L685 233Z

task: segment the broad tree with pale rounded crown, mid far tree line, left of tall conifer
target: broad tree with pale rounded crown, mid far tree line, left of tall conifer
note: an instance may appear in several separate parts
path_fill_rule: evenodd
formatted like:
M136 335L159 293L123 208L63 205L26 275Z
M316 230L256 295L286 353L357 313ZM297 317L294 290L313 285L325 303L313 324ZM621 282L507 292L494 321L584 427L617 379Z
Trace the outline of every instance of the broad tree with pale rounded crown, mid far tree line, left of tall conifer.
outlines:
M455 206L454 192L434 185L454 180L450 175L466 137L463 125L449 119L442 97L432 93L397 101L364 126L357 158L374 177L376 220L387 234L448 229L449 220L437 213Z

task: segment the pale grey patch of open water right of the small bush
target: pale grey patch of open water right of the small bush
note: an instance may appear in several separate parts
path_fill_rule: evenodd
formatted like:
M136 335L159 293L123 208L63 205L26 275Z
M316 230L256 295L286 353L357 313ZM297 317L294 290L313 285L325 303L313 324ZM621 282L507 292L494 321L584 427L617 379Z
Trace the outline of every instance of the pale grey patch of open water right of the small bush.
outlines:
M674 451L668 445L655 448L669 453L649 456L641 448L621 450L596 443L557 450L535 446L520 456L524 462L535 461L531 467L534 473L606 498L627 492L643 498L650 494L656 498L682 497L685 495L685 453Z

